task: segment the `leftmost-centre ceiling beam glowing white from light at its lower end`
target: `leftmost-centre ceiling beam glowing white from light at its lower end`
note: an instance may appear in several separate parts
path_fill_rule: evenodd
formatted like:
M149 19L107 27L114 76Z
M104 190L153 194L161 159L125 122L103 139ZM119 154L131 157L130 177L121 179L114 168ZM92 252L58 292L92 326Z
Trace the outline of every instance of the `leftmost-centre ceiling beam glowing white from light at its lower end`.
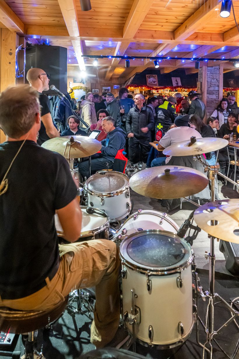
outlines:
M71 42L75 51L76 59L79 64L80 70L85 71L85 63L82 57L82 40L80 39L80 25L78 22L79 20L77 16L75 1L58 0L58 4L60 6L69 36L78 37L78 39L72 40Z

